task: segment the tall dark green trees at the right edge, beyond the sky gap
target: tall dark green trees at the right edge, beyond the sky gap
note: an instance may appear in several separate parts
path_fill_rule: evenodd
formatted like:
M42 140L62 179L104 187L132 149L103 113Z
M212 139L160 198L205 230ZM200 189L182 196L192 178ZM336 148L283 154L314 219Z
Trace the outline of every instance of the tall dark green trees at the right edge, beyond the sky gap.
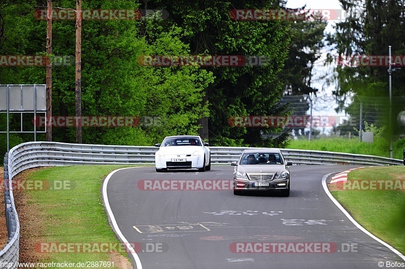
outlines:
M336 32L329 36L331 44L336 45L338 55L346 59L348 66L337 66L334 82L338 87L335 96L340 104L339 110L359 119L360 100L372 105L385 100L385 108L376 107L370 115L363 115L369 123L387 125L389 107L389 75L386 66L357 66L353 56L388 56L388 46L392 55L405 53L405 6L398 0L340 0L350 17L336 24ZM358 59L358 58L357 58ZM393 66L395 67L395 66ZM398 66L397 66L398 67ZM402 97L405 92L405 72L392 72L392 97ZM356 98L353 98L355 96ZM358 98L357 98L358 97ZM352 99L344 107L347 99ZM371 99L372 98L372 99ZM393 133L399 133L396 115L405 109L405 99L392 100ZM389 129L387 128L387 135Z

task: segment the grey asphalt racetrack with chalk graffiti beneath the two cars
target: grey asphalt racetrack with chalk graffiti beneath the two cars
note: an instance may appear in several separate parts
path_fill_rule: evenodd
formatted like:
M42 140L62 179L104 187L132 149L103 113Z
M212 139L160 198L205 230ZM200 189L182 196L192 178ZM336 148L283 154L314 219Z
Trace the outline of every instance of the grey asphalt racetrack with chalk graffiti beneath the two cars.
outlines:
M137 252L134 268L400 267L402 257L356 227L322 187L325 175L354 167L291 166L290 197L233 195L230 165L136 167L110 174L103 195L115 232Z

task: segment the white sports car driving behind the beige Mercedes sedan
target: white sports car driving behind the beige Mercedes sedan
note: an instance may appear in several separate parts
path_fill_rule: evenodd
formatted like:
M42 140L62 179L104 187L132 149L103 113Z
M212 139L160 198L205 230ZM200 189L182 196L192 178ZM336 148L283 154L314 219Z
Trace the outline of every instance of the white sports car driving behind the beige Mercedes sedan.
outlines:
M166 137L155 153L156 172L168 169L211 170L211 151L199 136Z

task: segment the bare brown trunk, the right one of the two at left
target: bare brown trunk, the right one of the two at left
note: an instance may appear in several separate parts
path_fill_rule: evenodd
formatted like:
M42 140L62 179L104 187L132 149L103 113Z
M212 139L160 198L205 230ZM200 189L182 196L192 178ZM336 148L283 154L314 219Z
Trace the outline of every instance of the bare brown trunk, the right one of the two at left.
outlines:
M76 0L76 143L82 144L82 0Z

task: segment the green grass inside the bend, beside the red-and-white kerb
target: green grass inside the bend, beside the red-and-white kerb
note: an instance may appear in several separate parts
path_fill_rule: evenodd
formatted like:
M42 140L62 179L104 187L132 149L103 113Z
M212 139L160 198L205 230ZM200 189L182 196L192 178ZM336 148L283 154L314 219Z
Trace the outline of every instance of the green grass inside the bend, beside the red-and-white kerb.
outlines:
M356 169L348 174L348 181L354 180L405 180L405 166ZM362 227L405 253L405 190L341 190L331 193Z

